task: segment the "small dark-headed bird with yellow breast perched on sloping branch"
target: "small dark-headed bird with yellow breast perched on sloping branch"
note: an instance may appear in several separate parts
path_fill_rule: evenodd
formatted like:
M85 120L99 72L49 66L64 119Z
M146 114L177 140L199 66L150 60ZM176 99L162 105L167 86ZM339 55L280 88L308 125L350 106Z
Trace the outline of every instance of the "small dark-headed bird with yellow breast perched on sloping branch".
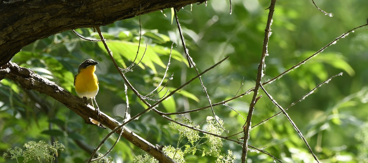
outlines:
M75 92L81 98L86 97L89 104L93 106L93 100L96 103L96 112L98 115L100 114L97 102L96 95L98 93L98 78L95 74L96 64L98 62L92 59L86 59L79 65L78 73L74 76L74 87Z

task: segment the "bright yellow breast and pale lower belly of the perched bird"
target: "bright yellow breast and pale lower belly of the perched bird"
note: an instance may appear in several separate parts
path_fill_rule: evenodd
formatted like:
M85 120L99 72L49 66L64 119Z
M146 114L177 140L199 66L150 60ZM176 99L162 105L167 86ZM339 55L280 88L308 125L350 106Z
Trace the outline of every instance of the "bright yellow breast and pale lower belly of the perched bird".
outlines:
M79 71L75 76L75 92L79 97L95 98L98 93L96 66L91 65Z

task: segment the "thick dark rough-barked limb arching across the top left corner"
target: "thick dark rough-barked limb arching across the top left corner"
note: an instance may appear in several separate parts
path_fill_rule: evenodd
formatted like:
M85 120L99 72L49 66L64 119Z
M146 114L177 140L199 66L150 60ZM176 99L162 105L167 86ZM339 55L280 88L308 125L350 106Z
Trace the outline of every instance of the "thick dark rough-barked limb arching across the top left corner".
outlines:
M0 1L0 66L22 47L63 31L104 26L165 8L205 0Z

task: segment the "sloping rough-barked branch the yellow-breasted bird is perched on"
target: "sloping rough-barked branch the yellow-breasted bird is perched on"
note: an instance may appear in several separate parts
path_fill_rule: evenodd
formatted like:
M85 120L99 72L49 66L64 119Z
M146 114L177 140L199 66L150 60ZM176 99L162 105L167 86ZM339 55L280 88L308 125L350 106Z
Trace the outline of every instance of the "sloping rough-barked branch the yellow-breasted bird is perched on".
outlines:
M35 90L39 93L46 94L57 101L60 101L70 110L74 111L83 119L85 119L86 122L89 122L89 118L93 118L112 130L121 125L119 122L115 121L113 118L107 116L103 112L100 112L101 114L98 116L94 111L94 108L91 105L87 105L83 99L72 95L70 92L64 90L54 82L40 77L39 74L34 73L28 68L19 67L17 64L9 62L0 68L0 80L4 78L8 78L19 83L24 89ZM145 152L149 153L160 162L174 162L160 149L157 149L155 145L139 137L137 134L134 134L126 127L123 127L123 130L124 131L121 135L122 137ZM120 134L120 132L121 130L116 131L118 134Z

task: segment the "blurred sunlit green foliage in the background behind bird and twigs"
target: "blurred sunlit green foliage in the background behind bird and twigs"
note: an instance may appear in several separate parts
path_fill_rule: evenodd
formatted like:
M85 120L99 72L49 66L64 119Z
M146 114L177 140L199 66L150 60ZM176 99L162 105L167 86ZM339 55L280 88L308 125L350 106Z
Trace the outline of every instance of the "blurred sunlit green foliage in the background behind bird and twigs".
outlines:
M231 3L231 15L229 1L224 0L208 1L207 6L188 5L178 12L189 53L199 71L202 72L230 56L228 60L202 75L212 103L234 97L240 86L239 93L244 93L255 85L262 52L268 16L268 10L265 9L269 6L269 1L232 0ZM265 80L276 77L301 62L348 30L367 23L366 0L316 1L316 4L322 10L332 12L334 16L324 15L314 7L312 1L276 2L272 35L268 44L269 56L266 57ZM141 63L133 71L126 73L141 95L147 95L162 80L170 47L174 42L170 67L163 81L169 83L163 88L163 92L153 97L155 99L162 97L168 89L178 88L197 75L192 68L187 67L176 23L173 21L171 24L171 13L170 9L165 9L163 12L140 17L142 38L134 63L137 64L144 51L146 52ZM101 30L119 66L128 67L137 55L139 17L103 26ZM99 38L93 29L76 29L76 32L91 39ZM312 95L287 111L322 162L367 162L367 40L367 27L357 29L299 68L265 86L280 105L287 107L329 77L344 73L319 87ZM100 42L81 40L71 31L62 32L24 47L14 56L12 62L31 68L76 95L73 77L78 65L88 58L99 62L96 74L100 90L96 99L100 110L121 122L126 106L124 81ZM174 74L173 79L169 79L171 74ZM262 93L261 91L260 94ZM233 100L228 105L246 117L251 95ZM130 90L128 100L128 112L132 116L146 108ZM207 105L208 100L197 79L157 109L175 112ZM225 105L218 105L213 109L223 119L225 129L229 130L223 136L242 131L244 119L236 112ZM279 109L263 95L256 103L252 124L277 112ZM180 116L182 115L178 115ZM213 115L210 109L206 109L184 116L198 124L205 121L207 116ZM152 144L176 147L179 140L178 132L169 127L166 119L154 112L142 115L127 127ZM205 129L206 126L201 127ZM83 162L91 153L82 149L78 141L95 148L108 132L109 130L84 124L82 118L50 97L24 90L8 79L0 82L0 153L29 141L59 141L66 147L59 152L60 162ZM239 134L231 138L236 140L243 136ZM108 150L116 138L116 135L110 137L99 152ZM231 141L223 140L222 143L221 153L227 154L231 150L239 161L241 146ZM250 144L263 148L283 162L314 160L296 130L283 115L253 128ZM119 163L133 162L135 156L142 154L144 152L141 149L121 139L109 156ZM199 152L185 157L187 162L216 161L216 157L202 157ZM250 152L248 160L273 161L269 156L257 152ZM0 158L0 162L6 161L13 160Z

